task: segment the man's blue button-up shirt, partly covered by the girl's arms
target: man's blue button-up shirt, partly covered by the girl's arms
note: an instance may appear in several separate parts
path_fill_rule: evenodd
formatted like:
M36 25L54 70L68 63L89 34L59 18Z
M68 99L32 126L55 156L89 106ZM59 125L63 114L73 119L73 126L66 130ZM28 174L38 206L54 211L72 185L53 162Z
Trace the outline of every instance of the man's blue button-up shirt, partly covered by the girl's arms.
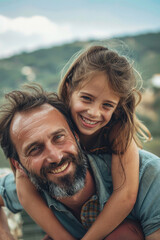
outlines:
M140 150L139 191L136 204L128 218L140 221L145 236L160 229L160 158ZM111 155L88 155L89 164L96 183L100 209L112 194ZM14 175L0 179L0 194L5 205L14 213L22 210L16 194ZM75 237L82 238L86 233L83 225L62 203L43 192L48 206L63 226Z

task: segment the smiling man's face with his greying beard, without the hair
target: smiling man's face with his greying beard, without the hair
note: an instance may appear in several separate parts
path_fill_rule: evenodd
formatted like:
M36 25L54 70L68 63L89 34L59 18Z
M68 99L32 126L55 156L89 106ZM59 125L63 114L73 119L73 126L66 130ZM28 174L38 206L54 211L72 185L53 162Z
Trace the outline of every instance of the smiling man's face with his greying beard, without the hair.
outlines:
M86 160L57 109L44 104L16 113L10 135L21 164L37 187L60 198L84 186Z

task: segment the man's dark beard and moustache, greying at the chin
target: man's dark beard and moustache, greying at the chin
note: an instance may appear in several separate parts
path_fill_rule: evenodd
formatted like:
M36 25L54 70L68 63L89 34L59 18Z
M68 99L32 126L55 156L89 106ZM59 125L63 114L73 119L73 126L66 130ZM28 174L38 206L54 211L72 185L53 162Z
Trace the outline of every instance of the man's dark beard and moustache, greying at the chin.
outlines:
M63 177L58 177L58 183L48 180L47 174L65 162L72 162L75 165L74 174L66 174ZM38 190L44 190L50 196L60 199L71 197L84 187L87 166L86 156L78 149L77 156L68 154L59 164L50 163L48 167L43 167L40 171L40 176L28 171L27 175ZM26 169L24 170L26 171Z

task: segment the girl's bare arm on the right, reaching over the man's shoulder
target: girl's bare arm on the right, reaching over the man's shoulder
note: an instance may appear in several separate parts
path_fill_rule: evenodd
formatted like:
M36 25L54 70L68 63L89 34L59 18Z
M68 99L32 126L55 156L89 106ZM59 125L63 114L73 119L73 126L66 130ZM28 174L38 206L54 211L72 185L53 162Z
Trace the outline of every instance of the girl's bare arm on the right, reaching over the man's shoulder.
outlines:
M122 156L121 162L123 167L119 157L112 155L113 193L83 240L104 239L128 216L136 202L139 186L139 154L133 140Z

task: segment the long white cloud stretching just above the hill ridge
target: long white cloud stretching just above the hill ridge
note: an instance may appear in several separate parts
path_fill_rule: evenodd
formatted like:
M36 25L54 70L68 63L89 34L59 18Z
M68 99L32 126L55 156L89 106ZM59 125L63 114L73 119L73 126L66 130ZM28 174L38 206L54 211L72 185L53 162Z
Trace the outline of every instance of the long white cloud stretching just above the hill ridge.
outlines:
M44 16L9 18L0 15L0 57L61 44L75 39L105 38L111 27L82 21L59 24Z

